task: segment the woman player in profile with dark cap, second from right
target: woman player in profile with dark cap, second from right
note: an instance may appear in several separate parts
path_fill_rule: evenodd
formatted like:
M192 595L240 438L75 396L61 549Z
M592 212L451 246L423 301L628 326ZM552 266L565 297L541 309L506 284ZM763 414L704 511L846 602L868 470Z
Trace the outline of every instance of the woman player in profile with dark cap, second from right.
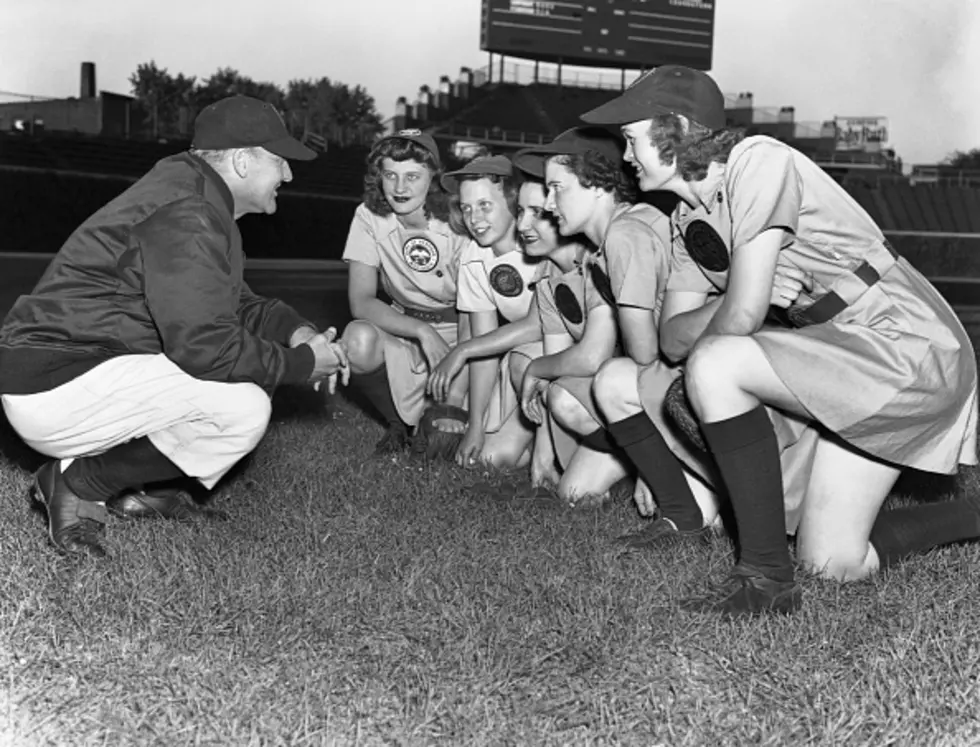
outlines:
M621 141L605 130L573 128L550 145L520 151L516 158L520 165L521 158L533 156L547 159L546 209L555 215L561 234L582 233L598 247L589 260L588 271L597 290L615 311L626 355L637 365L654 363L658 359L657 325L669 266L667 217L651 205L634 204L636 185L623 171ZM656 428L627 432L600 426L604 421L598 417L589 392L597 370L592 368L582 374L587 377L586 396L567 398L570 407L558 417L569 430L585 434L585 448L576 453L576 464L583 473L593 476L593 485L602 486L602 491L593 495L608 495L609 487L626 475L625 457L636 451L639 443L644 448L644 458L634 460L641 465L642 478L637 481L634 500L640 512L652 513L652 488L662 513L678 525L685 525L688 516L694 517L698 530L705 520L713 521L717 510L711 492L685 475ZM547 373L541 360L528 367L522 390L525 409L532 408L536 396L548 387ZM581 382L579 379L575 384ZM567 379L551 385L548 403L552 409L556 389L574 394L575 385ZM532 413L533 409L529 417ZM704 503L706 517L702 516L699 500Z

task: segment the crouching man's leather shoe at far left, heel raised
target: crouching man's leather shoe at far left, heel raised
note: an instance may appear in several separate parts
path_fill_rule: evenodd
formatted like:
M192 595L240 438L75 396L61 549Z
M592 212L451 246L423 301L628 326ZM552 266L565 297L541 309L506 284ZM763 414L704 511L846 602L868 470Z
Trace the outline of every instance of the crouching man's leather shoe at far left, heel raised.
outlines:
M48 536L59 552L94 558L107 555L99 542L99 534L106 522L105 506L83 501L75 495L65 483L57 460L37 471L32 493L34 500L47 509Z

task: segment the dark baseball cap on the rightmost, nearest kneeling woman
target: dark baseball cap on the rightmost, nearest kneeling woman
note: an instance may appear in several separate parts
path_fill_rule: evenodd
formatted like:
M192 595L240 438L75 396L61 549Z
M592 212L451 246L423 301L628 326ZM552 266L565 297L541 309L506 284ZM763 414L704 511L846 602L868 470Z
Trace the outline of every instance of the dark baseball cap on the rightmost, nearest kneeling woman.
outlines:
M658 114L682 114L710 130L725 126L725 97L707 73L663 65L641 75L622 95L582 115L590 124L624 125Z

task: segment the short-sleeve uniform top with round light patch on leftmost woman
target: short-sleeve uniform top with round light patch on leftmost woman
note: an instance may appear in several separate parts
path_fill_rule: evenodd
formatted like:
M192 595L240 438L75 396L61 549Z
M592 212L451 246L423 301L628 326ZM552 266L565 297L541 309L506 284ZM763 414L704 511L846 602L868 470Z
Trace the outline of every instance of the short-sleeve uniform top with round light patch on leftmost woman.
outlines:
M344 260L378 268L381 287L396 305L445 309L456 305L459 260L472 243L430 218L424 230L405 228L395 215L379 216L358 205Z

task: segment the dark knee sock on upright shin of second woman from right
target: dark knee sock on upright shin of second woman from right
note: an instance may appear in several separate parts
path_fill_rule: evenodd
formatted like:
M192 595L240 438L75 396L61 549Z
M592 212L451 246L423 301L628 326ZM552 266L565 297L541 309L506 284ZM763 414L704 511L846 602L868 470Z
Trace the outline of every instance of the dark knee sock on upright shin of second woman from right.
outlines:
M704 517L684 477L680 460L668 448L647 414L639 412L610 423L609 434L653 491L664 518L683 531L700 529Z

